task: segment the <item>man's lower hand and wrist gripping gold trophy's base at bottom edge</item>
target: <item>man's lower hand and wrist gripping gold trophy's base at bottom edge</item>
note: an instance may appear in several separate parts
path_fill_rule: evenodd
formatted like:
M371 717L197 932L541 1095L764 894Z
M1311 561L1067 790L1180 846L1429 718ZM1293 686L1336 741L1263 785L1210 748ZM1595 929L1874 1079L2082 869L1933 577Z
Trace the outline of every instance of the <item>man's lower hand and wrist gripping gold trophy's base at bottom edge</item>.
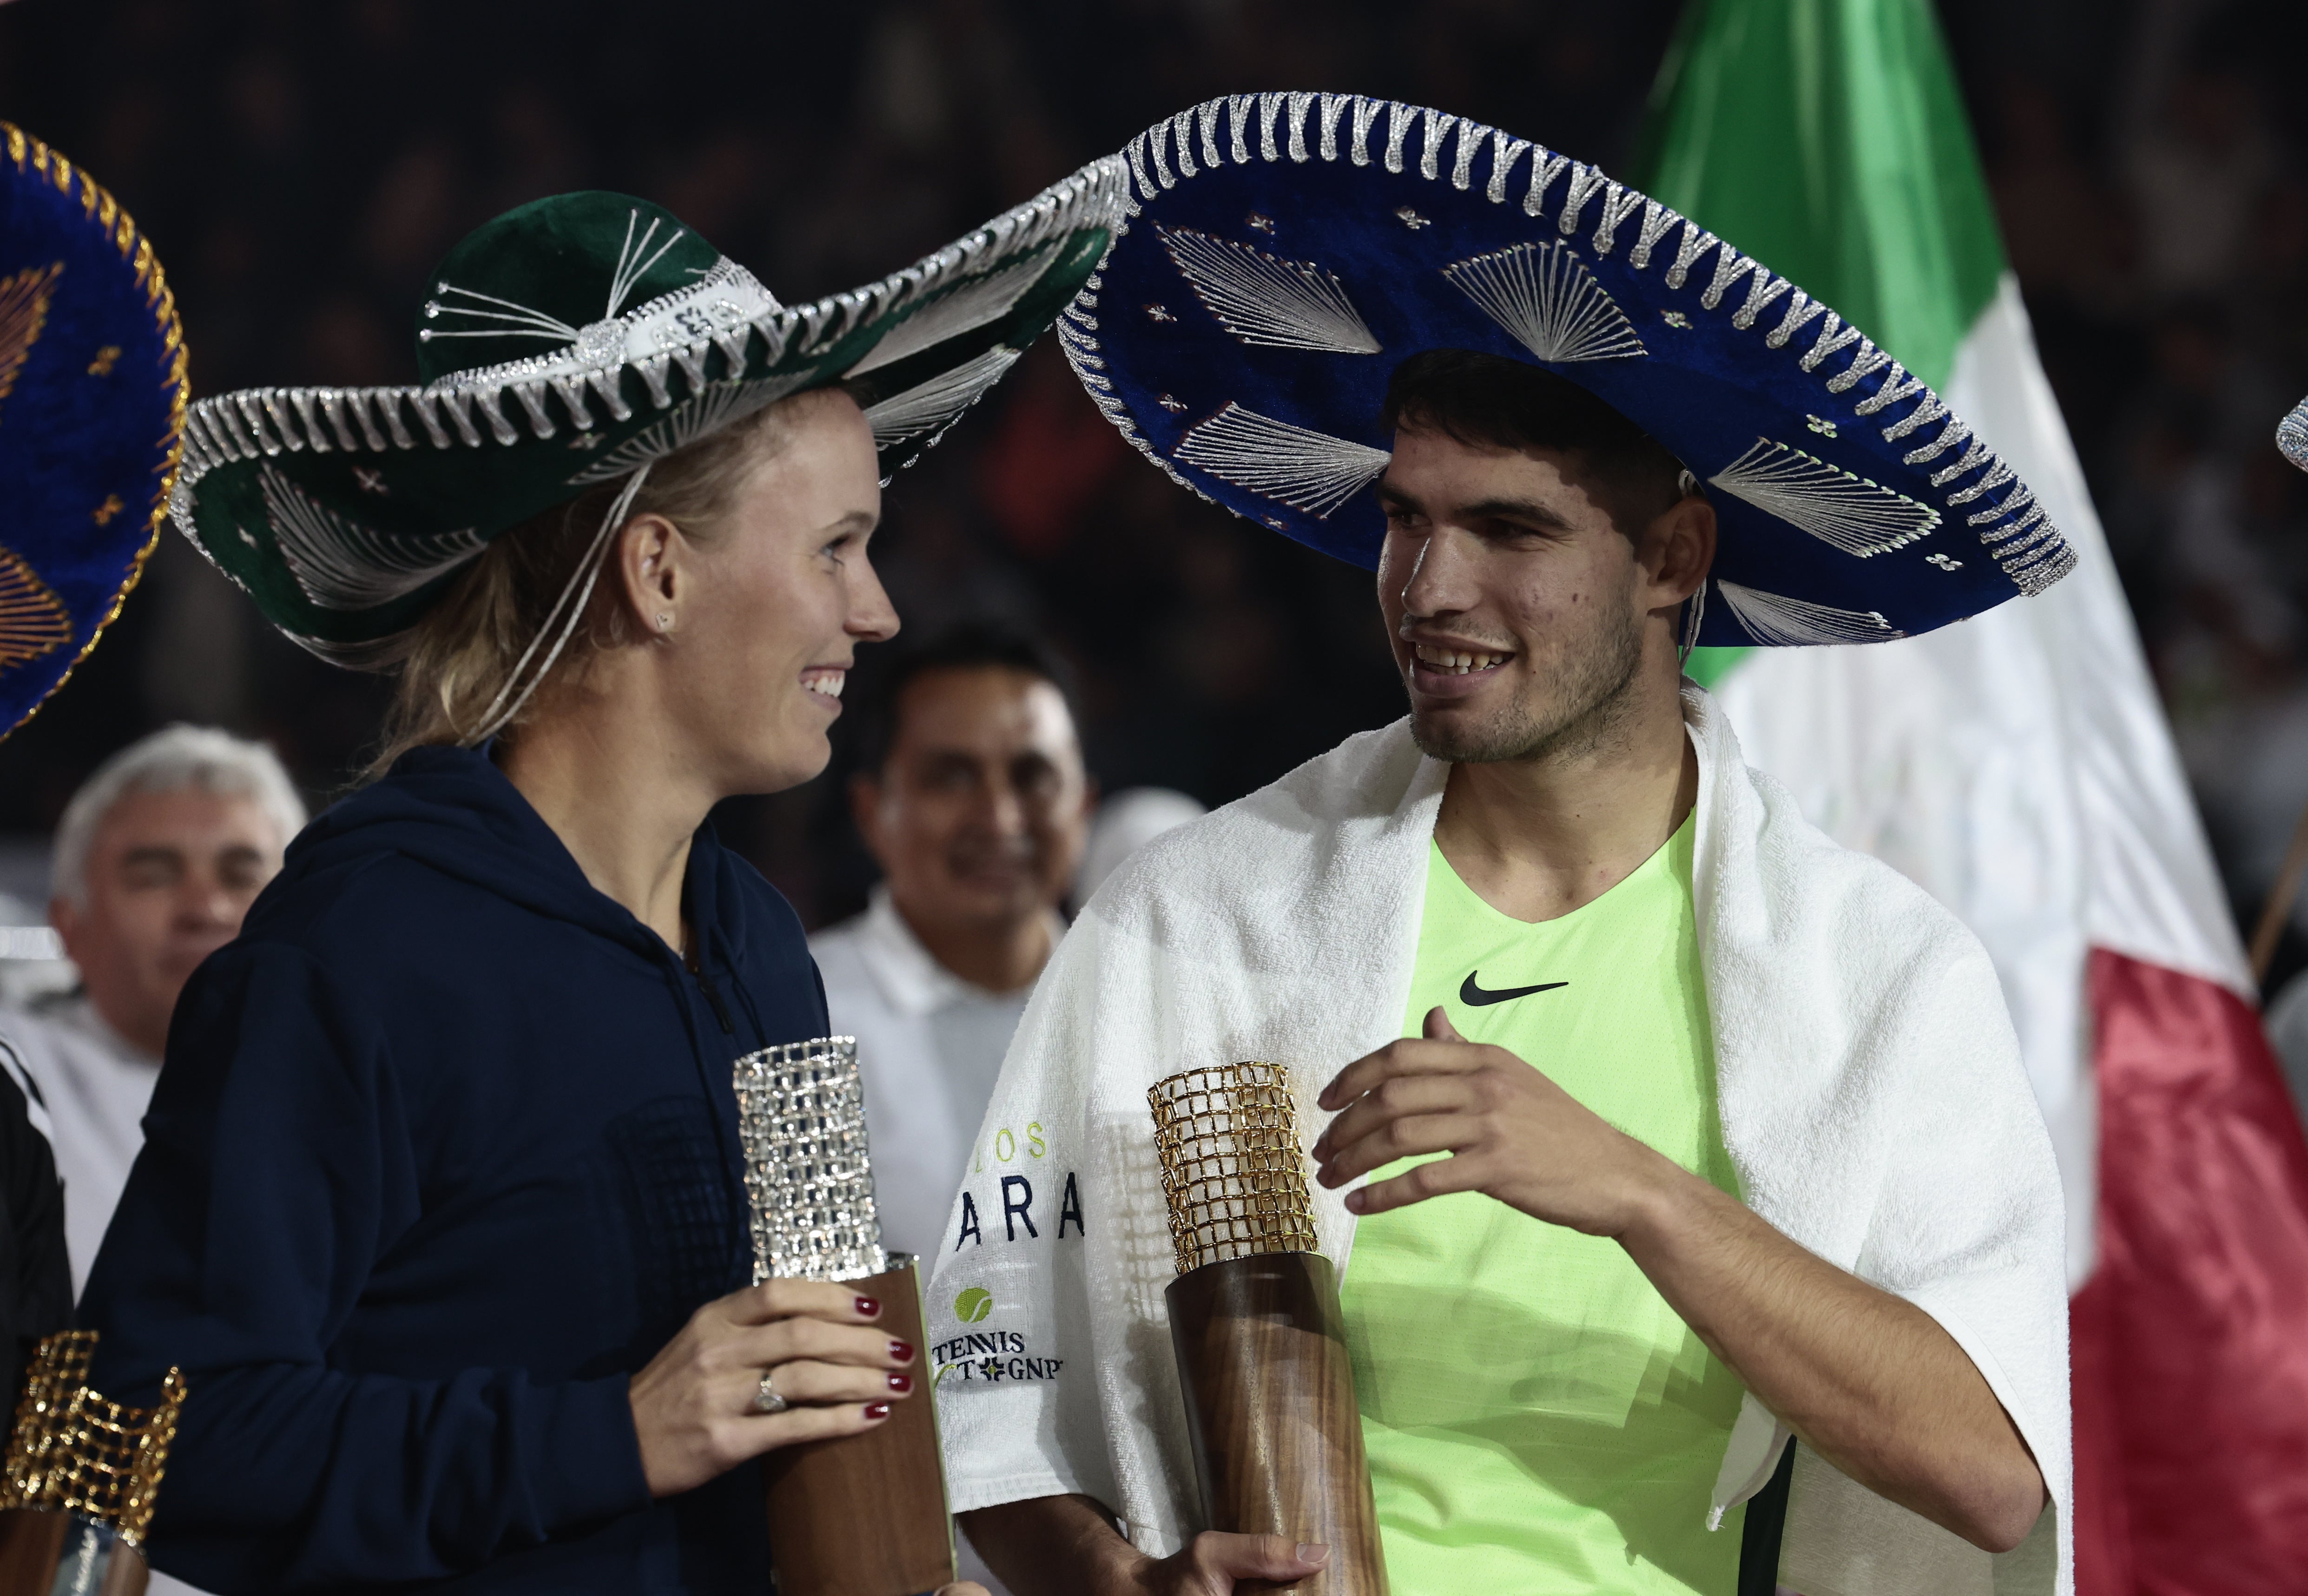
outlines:
M1322 1573L1327 1545L1205 1529L1175 1557L1147 1557L1089 1497L1032 1497L962 1513L979 1554L1018 1596L1235 1596L1235 1580L1290 1584Z

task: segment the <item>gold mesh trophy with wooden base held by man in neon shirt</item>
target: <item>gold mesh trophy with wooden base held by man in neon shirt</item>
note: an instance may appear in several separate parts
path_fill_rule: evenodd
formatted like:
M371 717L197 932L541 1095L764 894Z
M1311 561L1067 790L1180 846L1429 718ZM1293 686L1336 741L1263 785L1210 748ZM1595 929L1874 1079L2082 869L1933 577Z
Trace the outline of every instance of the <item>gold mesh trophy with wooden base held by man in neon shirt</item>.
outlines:
M1202 1527L1329 1545L1309 1596L1385 1596L1339 1282L1316 1252L1297 1105L1272 1063L1147 1091L1177 1280L1170 1345ZM1237 1589L1274 1589L1237 1584Z

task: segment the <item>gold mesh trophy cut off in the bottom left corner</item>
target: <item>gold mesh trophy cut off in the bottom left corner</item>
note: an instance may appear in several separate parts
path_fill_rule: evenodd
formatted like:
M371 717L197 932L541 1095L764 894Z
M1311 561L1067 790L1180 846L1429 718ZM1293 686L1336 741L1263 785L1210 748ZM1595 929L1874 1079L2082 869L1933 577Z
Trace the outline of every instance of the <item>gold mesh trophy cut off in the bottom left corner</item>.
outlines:
M39 1342L0 1481L0 1596L138 1596L152 1497L175 1439L185 1377L155 1407L88 1388L95 1331Z

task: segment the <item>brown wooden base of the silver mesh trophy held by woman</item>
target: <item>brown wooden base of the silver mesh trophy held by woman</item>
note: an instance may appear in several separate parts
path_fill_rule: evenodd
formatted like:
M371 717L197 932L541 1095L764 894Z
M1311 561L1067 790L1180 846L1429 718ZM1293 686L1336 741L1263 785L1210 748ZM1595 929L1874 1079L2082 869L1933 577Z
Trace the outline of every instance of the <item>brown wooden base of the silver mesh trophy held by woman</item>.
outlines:
M893 1400L889 1418L865 1435L780 1446L762 1458L778 1596L921 1596L953 1582L953 1520L937 1458L921 1275L914 1259L905 1259L842 1285L879 1298L879 1328L914 1342L923 1356L914 1365L912 1395Z

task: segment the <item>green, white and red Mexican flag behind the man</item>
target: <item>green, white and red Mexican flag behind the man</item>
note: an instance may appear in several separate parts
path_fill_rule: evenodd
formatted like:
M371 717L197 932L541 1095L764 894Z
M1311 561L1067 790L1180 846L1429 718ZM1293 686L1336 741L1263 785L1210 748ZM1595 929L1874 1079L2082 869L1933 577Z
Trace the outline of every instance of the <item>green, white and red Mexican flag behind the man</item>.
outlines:
M2077 1591L2308 1589L2308 1142L1929 0L1692 0L1641 166L1932 383L2075 544L2043 597L1929 637L1694 673L2003 978L2068 1190Z

